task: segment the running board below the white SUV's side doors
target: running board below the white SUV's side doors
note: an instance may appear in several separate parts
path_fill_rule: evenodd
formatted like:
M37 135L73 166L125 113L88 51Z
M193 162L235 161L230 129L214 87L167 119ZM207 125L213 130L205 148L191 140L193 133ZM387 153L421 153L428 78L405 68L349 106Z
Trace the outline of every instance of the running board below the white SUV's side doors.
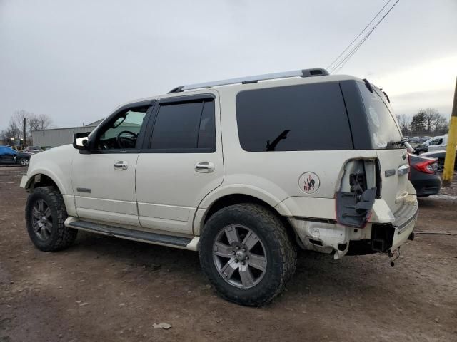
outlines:
M141 230L126 229L114 227L108 224L100 224L88 222L75 217L69 217L65 221L65 226L74 229L82 229L88 232L109 235L111 237L119 237L121 239L129 239L139 242L147 242L149 244L164 244L166 246L178 247L184 249L197 250L199 237L176 237L174 235L157 234L144 232Z

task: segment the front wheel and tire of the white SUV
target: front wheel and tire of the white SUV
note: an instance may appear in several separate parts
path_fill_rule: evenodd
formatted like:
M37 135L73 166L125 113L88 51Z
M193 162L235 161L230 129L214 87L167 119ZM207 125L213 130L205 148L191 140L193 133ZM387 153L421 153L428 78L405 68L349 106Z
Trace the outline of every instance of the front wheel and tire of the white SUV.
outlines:
M65 249L73 244L78 231L67 228L64 199L55 187L38 187L26 203L26 226L34 245L44 252Z

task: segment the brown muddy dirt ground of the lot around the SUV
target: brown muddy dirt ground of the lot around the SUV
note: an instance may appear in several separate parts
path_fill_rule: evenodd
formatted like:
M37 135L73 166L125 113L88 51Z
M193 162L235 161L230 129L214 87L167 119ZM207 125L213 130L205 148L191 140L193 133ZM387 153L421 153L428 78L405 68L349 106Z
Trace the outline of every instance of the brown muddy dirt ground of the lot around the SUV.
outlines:
M457 235L416 234L393 268L381 254L303 252L282 296L245 308L214 294L194 252L84 232L39 252L23 172L0 168L1 342L457 341ZM457 233L456 198L421 199L417 229Z

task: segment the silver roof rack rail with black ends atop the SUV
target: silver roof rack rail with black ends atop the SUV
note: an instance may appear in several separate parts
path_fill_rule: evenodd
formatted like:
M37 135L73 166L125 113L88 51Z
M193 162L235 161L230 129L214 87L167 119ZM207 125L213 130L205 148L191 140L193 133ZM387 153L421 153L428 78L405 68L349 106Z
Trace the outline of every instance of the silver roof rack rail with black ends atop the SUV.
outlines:
M310 77L310 76L327 76L329 75L328 71L323 68L315 69L303 69L303 70L294 70L294 71L284 71L282 73L266 73L265 75L256 75L256 76L246 76L241 78L230 78L228 80L221 81L212 81L204 83L195 83L189 84L186 86L179 86L173 88L169 93L180 93L184 90L198 89L198 88L211 88L216 86L226 86L229 84L248 84L256 83L258 81L273 80L275 78L288 78L288 77Z

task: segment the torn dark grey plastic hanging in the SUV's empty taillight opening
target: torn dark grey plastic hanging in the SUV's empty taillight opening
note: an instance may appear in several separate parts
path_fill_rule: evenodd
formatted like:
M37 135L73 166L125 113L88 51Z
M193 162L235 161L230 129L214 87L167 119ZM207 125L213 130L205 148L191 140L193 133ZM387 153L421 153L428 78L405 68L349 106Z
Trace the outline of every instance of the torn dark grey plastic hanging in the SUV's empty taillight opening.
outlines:
M354 192L336 192L336 219L344 226L363 228L371 216L376 197L376 187L361 195Z

